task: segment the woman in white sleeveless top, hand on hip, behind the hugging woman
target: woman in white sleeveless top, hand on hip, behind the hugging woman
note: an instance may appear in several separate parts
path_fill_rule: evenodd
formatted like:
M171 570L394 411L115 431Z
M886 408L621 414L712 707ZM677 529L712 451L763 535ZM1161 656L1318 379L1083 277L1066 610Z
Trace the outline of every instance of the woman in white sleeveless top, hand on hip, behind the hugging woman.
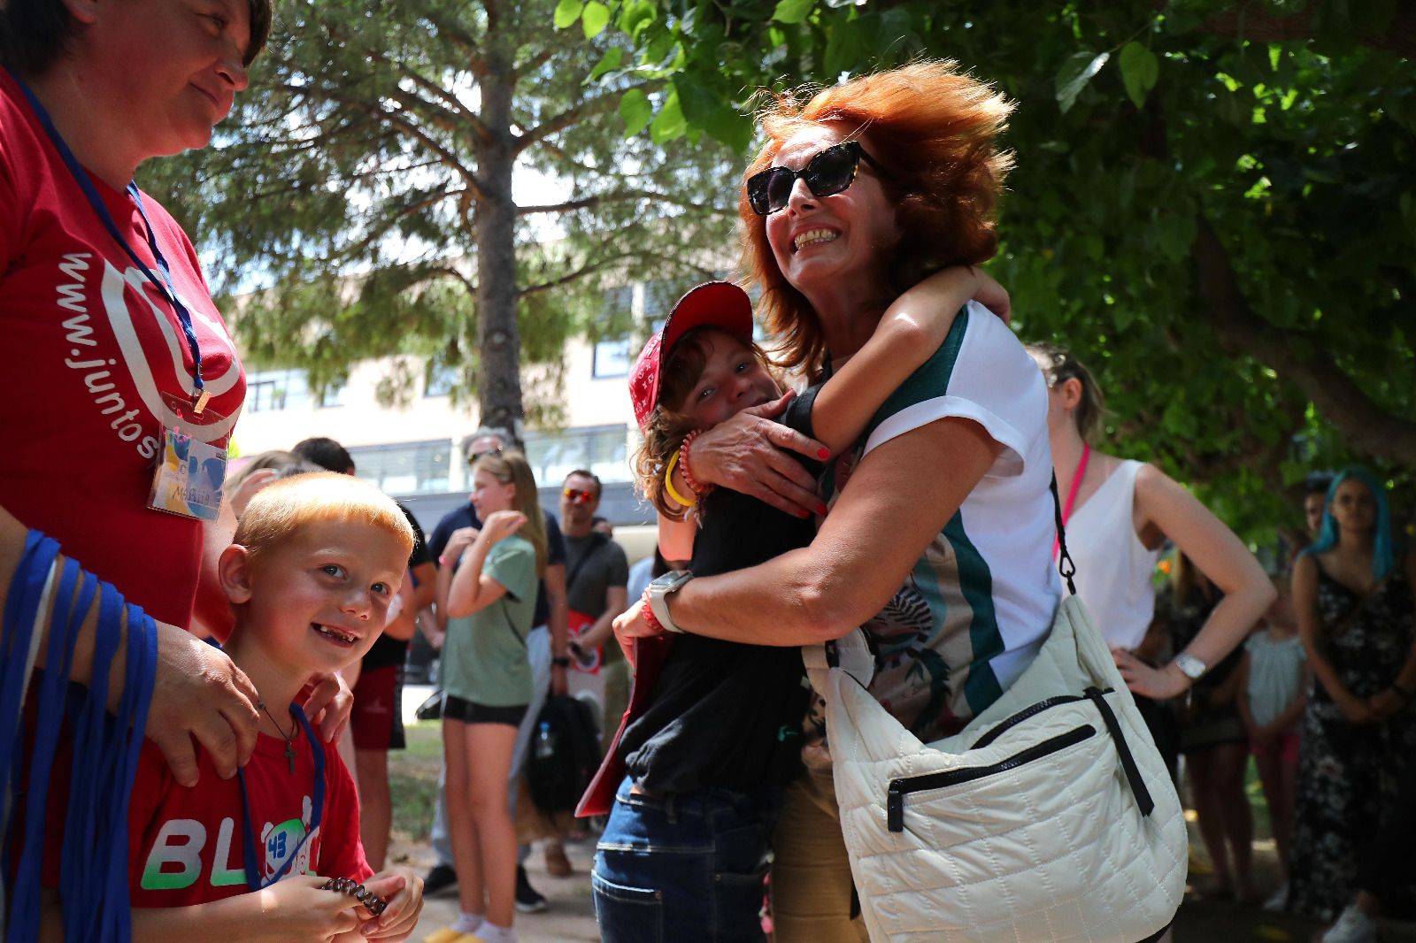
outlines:
M1048 382L1048 438L1068 551L1076 562L1078 595L1112 646L1116 667L1138 695L1164 701L1184 694L1243 640L1274 599L1259 561L1225 524L1189 491L1153 464L1097 452L1089 439L1102 432L1104 399L1096 381L1075 357L1048 344L1029 344ZM1223 592L1209 619L1182 651L1151 667L1134 650L1155 609L1151 573L1165 539L1172 541ZM1187 758L1192 780L1205 793L1242 794L1247 750L1202 750ZM1239 817L1239 811L1235 817ZM1247 813L1247 808L1243 810ZM1215 886L1232 888L1223 834L1231 818L1222 810L1201 823L1215 865ZM1221 821L1215 821L1215 820ZM1240 875L1242 842L1235 845ZM1239 888L1245 893L1246 888Z

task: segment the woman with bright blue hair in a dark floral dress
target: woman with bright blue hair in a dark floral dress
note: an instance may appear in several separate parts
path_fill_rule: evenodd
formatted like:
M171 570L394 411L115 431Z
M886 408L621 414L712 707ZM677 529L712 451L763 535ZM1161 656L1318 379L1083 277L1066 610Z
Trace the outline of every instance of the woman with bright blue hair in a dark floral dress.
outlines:
M1314 674L1289 862L1289 906L1306 916L1330 920L1351 899L1358 851L1381 825L1374 810L1391 807L1416 753L1413 583L1416 556L1396 554L1385 488L1347 469L1293 566Z

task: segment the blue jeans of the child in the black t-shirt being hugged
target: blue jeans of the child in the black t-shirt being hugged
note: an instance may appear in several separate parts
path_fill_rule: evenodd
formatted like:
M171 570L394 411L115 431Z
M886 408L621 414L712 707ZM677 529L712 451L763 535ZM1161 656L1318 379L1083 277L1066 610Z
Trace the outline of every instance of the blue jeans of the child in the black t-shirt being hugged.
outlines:
M762 943L775 790L666 797L620 783L590 886L603 943Z

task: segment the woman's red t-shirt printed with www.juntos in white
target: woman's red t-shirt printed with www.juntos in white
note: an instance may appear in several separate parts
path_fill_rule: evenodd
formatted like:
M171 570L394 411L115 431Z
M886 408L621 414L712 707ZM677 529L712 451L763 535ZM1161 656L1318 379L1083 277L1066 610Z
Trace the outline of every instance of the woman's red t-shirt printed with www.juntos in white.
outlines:
M157 273L132 198L92 177L119 231ZM212 442L245 399L235 345L187 235L143 194L191 310ZM109 235L18 85L0 69L0 507L44 531L156 619L188 626L201 524L147 507L163 394L191 399L177 313ZM219 413L221 419L217 418Z

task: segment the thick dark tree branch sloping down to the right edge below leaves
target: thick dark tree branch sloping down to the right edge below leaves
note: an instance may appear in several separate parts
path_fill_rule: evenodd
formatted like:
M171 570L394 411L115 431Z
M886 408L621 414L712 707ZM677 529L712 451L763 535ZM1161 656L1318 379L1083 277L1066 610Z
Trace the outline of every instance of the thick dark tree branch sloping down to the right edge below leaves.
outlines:
M1321 344L1294 344L1310 338L1256 316L1239 287L1229 253L1204 215L1198 217L1191 251L1205 317L1228 351L1247 354L1297 384L1354 450L1416 466L1416 422L1386 412Z

